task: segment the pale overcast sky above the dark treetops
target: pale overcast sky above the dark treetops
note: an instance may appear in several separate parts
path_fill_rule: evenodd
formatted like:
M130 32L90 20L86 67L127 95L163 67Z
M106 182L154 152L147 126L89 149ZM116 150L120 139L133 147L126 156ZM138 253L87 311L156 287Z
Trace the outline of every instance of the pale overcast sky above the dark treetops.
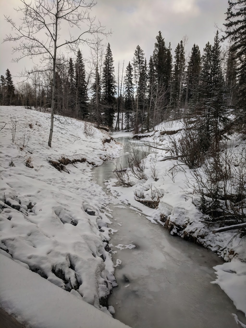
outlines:
M126 64L132 60L137 45L143 49L148 61L158 31L162 32L167 45L171 42L173 51L183 36L187 35L187 55L194 43L198 44L202 52L208 41L213 42L215 24L222 28L227 4L227 0L98 0L92 15L96 15L107 29L112 29L112 36L105 42L110 43L117 66L118 60L121 65L123 60ZM18 13L13 8L19 5L19 0L0 1L1 40L11 31L4 14L18 22ZM12 46L10 43L1 44L0 74L5 75L9 68L15 76L24 66L33 66L27 59L11 62ZM84 57L89 55L87 46L81 46L81 51Z

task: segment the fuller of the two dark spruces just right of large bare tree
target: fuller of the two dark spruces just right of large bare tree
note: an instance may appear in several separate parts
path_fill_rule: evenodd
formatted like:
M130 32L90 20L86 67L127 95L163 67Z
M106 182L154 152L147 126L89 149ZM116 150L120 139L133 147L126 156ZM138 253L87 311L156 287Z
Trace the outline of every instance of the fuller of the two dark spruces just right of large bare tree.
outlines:
M88 116L88 94L87 94L87 84L85 80L85 64L82 58L81 51L78 50L76 62L75 62L75 108L77 112L77 117L82 119Z

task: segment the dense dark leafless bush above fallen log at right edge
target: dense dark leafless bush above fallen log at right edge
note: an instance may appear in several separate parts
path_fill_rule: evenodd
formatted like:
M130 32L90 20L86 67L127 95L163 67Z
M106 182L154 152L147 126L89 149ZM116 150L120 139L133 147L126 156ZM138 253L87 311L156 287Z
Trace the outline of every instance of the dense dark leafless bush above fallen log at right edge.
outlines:
M191 187L191 183L187 185ZM206 214L205 223L224 226L246 222L246 148L215 152L193 172L193 183L200 210Z

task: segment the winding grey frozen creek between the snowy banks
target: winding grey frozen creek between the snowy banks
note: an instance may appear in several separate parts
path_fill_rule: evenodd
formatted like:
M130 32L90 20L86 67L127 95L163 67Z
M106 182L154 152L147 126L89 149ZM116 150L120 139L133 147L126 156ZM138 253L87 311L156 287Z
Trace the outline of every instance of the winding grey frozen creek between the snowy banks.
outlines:
M94 181L108 193L103 180L113 177L115 162L126 163L129 139L119 137L123 155L93 169ZM109 304L114 318L133 328L238 328L232 313L242 322L230 298L216 284L213 266L223 261L212 251L174 237L160 224L153 224L131 210L111 204L111 227L118 230L111 237L113 245L134 244L136 248L113 247L113 261L118 287ZM122 222L122 223L121 223ZM117 223L121 223L119 226Z

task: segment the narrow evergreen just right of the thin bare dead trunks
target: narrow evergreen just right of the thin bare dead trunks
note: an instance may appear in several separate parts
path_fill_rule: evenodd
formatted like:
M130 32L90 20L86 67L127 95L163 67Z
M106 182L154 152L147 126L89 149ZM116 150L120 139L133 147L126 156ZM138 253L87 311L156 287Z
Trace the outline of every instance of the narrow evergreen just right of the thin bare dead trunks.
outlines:
M125 121L126 121L127 129L129 129L133 123L133 102L134 102L133 67L130 61L126 67L124 85L125 85Z

